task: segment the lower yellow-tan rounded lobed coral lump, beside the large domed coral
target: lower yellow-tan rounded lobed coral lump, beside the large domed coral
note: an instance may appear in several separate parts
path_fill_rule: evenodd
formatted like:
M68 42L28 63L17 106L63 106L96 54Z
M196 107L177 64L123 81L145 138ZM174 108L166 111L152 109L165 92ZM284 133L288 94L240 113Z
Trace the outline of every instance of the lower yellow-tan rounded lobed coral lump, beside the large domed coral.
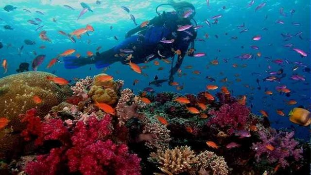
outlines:
M93 85L88 91L88 95L93 101L103 102L108 105L114 105L118 101L118 95L112 88L103 88L101 86Z

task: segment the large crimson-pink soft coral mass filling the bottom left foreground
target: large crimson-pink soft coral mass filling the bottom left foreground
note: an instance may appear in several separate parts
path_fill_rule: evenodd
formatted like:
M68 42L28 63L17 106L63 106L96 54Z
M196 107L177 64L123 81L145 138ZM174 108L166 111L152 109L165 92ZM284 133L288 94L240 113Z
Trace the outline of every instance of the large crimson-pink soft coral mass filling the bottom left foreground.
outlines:
M26 114L32 119L24 120L31 127L26 131L35 131L31 132L37 136L35 141L40 140L38 143L42 144L44 140L59 140L62 143L60 148L52 148L49 154L29 162L25 168L27 174L55 175L60 171L83 175L140 174L140 158L130 154L125 144L116 144L109 139L113 129L110 115L102 120L91 116L87 123L79 121L71 130L60 119L39 122L40 128L33 129L33 124L28 122L36 119L35 109Z

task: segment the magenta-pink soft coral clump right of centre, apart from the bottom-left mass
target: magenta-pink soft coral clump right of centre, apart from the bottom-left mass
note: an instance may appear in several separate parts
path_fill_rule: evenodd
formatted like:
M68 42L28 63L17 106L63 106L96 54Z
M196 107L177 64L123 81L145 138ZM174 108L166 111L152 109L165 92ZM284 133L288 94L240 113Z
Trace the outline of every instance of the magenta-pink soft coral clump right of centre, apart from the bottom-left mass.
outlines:
M240 103L222 105L218 111L210 110L208 112L213 117L207 125L215 124L223 128L227 134L232 134L235 130L244 129L249 116L249 109Z

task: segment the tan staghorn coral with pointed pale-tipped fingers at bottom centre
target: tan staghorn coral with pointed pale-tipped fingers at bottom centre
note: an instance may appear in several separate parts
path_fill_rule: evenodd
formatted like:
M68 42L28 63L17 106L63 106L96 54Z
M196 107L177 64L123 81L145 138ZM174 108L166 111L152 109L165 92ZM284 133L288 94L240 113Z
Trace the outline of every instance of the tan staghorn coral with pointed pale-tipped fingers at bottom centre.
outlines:
M166 174L177 175L190 172L199 162L199 158L188 146L177 146L174 149L157 150L150 154L149 161L158 164L158 168Z

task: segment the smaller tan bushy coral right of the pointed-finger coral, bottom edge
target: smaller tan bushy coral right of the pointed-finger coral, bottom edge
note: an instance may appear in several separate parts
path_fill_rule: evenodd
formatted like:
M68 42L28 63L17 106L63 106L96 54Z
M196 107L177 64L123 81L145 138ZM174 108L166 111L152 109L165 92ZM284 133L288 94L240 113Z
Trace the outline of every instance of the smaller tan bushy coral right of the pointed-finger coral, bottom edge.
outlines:
M198 163L198 169L210 172L211 175L228 174L228 166L224 157L217 156L210 151L201 152L197 157L200 160Z

